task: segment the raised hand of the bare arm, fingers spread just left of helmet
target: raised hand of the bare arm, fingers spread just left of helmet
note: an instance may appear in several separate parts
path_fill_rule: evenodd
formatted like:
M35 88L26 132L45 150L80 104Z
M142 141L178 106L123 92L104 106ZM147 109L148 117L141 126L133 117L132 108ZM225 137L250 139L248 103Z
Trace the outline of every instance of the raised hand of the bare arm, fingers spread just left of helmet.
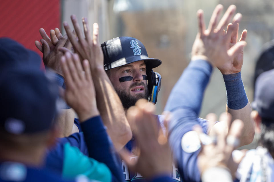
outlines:
M64 28L67 32L68 38L74 48L74 50L78 53L80 58L87 59L90 62L90 68L94 69L104 69L104 57L101 46L99 44L99 27L97 23L93 24L93 34L92 38L90 36L90 30L88 21L86 18L82 18L82 23L84 27L84 36L82 35L80 26L76 20L75 15L70 16L72 24L74 26L77 39L72 35L70 27L67 22L64 22Z

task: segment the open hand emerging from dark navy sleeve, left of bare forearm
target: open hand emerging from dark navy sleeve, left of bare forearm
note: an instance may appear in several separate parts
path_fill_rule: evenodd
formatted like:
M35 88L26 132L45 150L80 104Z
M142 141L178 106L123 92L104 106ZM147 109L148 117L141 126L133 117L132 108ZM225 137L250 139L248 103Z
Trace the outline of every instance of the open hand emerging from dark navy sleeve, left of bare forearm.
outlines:
M79 121L99 115L88 61L84 60L82 67L79 56L67 52L61 63L67 86L64 98L78 114Z

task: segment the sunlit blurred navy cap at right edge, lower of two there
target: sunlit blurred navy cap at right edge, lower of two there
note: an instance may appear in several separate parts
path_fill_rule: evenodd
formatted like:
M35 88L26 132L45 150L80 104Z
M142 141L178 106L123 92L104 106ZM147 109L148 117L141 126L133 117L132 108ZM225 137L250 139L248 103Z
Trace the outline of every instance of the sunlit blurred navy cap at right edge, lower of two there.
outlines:
M262 73L256 80L252 108L262 120L274 122L274 69Z

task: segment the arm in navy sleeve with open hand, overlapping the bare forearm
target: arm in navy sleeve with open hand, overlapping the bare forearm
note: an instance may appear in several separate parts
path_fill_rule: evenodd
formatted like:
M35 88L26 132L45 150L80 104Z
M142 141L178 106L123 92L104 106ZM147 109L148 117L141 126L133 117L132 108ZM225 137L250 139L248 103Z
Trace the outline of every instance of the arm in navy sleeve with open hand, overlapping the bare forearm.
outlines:
M79 116L89 157L105 163L114 181L121 181L122 171L96 106L95 89L87 60L80 63L77 54L66 53L62 68L67 81L65 99ZM83 69L83 68L84 69ZM96 166L94 166L96 167Z

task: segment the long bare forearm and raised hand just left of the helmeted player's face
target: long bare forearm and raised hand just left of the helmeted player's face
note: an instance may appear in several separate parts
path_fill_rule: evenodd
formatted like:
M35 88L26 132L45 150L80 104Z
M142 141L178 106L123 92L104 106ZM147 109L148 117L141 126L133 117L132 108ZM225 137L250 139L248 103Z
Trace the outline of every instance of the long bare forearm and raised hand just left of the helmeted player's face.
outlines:
M91 37L88 21L86 18L82 18L84 26L83 36L75 15L71 16L71 20L78 40L72 35L67 22L64 22L68 38L74 50L79 54L80 59L87 59L90 63L98 110L116 150L120 150L132 138L132 132L120 98L104 70L104 58L99 44L98 24L93 24Z

